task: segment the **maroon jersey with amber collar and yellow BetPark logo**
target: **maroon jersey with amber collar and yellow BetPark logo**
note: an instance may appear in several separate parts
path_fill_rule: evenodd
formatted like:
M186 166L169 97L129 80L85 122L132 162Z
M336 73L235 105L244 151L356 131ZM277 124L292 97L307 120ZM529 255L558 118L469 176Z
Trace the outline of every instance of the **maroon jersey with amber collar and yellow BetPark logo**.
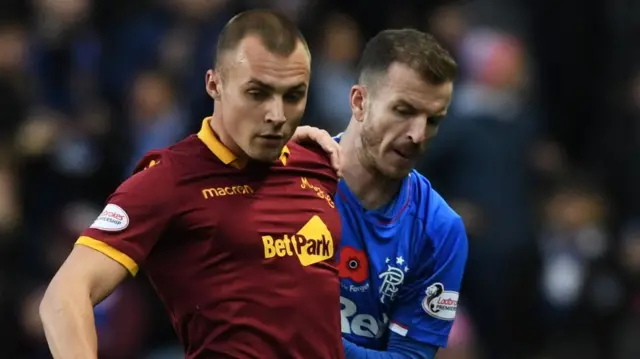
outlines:
M188 359L343 358L336 187L319 148L242 164L205 120L145 156L77 244L145 271Z

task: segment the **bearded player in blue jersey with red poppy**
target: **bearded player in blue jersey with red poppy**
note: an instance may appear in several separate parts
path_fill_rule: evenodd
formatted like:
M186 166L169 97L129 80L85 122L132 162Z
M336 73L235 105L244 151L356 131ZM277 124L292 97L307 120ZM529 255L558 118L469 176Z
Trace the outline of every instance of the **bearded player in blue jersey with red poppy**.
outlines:
M433 359L447 344L468 244L460 216L413 167L447 112L457 65L428 34L386 30L367 43L359 71L351 122L335 138L346 357ZM328 138L310 127L296 134L325 149Z

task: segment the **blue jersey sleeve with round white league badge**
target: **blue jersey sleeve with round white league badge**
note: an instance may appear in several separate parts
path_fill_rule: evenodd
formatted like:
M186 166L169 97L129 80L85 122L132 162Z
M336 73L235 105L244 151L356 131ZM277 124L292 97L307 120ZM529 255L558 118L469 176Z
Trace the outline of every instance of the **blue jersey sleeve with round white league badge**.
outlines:
M464 224L456 216L431 235L435 248L416 268L404 293L394 303L389 329L416 341L446 347L458 307L468 242Z

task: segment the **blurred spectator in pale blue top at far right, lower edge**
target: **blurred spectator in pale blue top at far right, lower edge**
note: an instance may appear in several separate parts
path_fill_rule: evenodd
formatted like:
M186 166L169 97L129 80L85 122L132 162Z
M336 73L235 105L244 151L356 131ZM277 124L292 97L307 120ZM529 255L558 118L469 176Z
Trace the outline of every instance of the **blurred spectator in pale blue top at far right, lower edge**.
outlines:
M607 208L602 193L575 180L545 205L540 293L554 350L584 338L599 339L589 348L601 356L613 349L611 319L622 307L623 283L611 266Z

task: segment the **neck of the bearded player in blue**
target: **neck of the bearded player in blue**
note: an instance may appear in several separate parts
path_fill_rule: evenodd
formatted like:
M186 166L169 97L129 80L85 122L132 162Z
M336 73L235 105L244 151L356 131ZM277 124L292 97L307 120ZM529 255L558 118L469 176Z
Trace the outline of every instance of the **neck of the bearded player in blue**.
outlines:
M378 209L389 203L398 193L402 180L385 177L369 159L356 128L358 124L351 119L342 134L343 170L342 178L351 192L366 209Z

